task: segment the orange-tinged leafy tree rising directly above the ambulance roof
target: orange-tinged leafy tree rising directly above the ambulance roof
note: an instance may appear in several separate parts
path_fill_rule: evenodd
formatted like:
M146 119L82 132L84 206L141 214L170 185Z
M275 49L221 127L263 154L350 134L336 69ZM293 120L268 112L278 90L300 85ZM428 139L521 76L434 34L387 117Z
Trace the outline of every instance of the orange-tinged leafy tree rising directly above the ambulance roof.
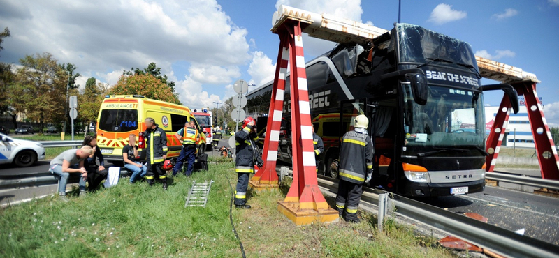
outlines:
M110 95L142 95L146 98L161 100L181 105L177 95L167 84L153 75L122 75L115 86L109 89Z

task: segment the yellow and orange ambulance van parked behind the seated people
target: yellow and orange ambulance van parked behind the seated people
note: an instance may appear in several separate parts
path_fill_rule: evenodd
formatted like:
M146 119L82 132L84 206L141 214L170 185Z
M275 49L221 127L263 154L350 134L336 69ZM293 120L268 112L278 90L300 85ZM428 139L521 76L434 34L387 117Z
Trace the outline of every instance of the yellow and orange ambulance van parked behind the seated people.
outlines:
M175 137L175 132L184 128L184 123L194 119L188 107L152 100L141 95L105 96L99 116L97 117L97 146L103 158L115 165L122 165L122 148L128 144L128 136L136 135L140 151L140 160L145 160L146 149L143 132L144 120L155 119L159 128L167 135L168 158L177 158L182 143ZM196 121L196 119L194 119ZM201 131L196 121L198 131ZM200 133L196 156L205 152L205 135Z

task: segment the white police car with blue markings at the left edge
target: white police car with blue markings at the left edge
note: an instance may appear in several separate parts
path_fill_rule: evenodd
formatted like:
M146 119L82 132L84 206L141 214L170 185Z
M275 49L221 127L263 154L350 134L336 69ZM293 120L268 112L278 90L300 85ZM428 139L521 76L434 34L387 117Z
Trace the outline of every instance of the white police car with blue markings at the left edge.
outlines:
M14 139L0 133L0 164L14 163L18 167L29 167L45 158L45 147L38 142Z

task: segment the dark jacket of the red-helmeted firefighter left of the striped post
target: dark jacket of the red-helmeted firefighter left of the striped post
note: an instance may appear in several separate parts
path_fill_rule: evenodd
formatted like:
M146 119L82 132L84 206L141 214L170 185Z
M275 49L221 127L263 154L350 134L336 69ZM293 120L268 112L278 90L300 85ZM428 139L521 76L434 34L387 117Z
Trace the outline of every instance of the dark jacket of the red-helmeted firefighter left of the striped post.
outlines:
M235 133L235 172L254 173L254 160L260 153L254 143L256 134L251 130L252 126L246 126Z

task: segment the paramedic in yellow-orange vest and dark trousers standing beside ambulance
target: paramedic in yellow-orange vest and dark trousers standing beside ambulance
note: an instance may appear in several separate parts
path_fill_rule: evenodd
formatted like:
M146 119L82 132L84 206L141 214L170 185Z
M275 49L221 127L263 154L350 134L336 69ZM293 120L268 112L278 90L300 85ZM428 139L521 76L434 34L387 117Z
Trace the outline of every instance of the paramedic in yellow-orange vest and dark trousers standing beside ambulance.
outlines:
M179 158L177 158L177 164L173 168L173 176L182 169L182 163L186 159L188 161L186 176L191 176L194 170L194 160L196 159L196 142L200 140L200 135L198 135L198 130L196 130L196 123L194 119L190 119L190 122L184 123L184 128L175 133L175 137L182 141L182 150L180 151Z

